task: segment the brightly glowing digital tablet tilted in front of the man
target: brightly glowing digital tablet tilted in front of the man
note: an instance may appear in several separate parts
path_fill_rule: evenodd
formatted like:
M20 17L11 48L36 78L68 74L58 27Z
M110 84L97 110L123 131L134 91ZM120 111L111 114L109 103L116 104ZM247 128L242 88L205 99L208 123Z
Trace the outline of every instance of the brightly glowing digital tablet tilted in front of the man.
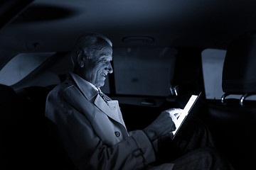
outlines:
M181 115L178 116L178 120L176 123L176 130L172 132L174 137L176 136L178 130L181 128L181 125L183 125L183 122L186 120L188 114L191 112L193 106L195 105L200 95L201 93L198 95L191 95L191 97L189 98L188 103L186 103L186 106L183 108Z

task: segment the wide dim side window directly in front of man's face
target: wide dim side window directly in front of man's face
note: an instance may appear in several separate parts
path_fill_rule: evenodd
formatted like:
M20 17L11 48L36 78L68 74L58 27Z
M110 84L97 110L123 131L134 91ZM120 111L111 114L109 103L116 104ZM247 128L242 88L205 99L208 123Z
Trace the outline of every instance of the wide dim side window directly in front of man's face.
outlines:
M117 94L168 96L176 50L169 47L119 47L113 52Z

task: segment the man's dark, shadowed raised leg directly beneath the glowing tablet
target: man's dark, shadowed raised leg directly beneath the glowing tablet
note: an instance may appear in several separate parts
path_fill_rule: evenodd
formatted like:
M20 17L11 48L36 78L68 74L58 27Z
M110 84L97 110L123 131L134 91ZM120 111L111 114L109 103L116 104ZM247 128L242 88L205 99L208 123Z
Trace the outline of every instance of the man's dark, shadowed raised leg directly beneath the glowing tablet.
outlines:
M171 137L159 138L158 164L172 162L195 149L215 147L208 128L201 120L191 117L186 123L174 140Z

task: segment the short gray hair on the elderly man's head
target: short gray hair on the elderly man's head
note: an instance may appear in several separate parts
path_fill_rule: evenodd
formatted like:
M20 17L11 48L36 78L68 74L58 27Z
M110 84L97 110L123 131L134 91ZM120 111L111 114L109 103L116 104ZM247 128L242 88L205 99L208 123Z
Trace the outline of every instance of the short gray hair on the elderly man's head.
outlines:
M80 35L75 43L71 60L73 67L78 64L78 55L82 53L86 59L95 59L94 52L96 50L102 50L105 47L112 47L112 42L107 37L100 33L86 33Z

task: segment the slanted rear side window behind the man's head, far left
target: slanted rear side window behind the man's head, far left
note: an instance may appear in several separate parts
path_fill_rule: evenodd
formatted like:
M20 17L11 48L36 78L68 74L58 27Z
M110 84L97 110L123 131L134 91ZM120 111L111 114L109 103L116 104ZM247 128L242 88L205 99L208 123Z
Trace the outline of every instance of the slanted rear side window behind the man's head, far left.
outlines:
M22 53L13 57L0 71L0 83L11 86L21 81L33 72L40 64L45 62L53 52Z

